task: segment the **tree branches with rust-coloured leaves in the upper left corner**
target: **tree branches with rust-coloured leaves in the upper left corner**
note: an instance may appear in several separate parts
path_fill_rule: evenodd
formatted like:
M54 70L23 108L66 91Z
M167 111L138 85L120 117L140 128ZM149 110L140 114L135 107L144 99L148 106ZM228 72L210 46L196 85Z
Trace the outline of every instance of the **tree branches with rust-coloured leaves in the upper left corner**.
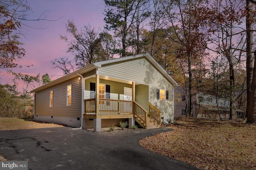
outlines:
M42 17L44 13L38 19L29 19L30 12L26 0L0 1L0 68L21 67L17 60L24 57L25 49L22 48L23 43L19 40L23 35L20 28L29 27L24 21L47 20Z

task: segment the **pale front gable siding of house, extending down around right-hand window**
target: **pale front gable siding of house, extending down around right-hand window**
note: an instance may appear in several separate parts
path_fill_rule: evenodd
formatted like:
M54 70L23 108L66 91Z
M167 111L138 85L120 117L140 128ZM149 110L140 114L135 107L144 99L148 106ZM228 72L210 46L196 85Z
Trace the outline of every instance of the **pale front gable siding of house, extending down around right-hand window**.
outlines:
M146 58L141 57L127 61L102 65L98 68L100 75L120 78L150 85L150 103L162 111L164 122L174 119L173 85ZM169 100L157 100L156 89L168 90Z

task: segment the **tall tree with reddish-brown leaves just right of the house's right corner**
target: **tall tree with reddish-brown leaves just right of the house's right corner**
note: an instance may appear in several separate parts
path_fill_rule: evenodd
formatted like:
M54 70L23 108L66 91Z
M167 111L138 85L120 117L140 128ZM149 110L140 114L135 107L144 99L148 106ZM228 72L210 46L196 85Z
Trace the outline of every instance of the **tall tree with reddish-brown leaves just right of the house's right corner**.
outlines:
M163 0L162 6L165 10L166 20L174 28L173 39L179 43L179 57L185 57L188 64L188 95L189 115L192 115L192 61L200 55L205 55L206 48L205 34L200 33L200 22L197 16L192 15L200 4L199 0Z

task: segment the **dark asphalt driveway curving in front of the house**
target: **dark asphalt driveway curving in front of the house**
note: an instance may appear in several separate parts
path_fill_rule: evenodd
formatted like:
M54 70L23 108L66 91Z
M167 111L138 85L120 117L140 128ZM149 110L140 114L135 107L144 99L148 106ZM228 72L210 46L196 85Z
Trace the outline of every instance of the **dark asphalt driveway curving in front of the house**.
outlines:
M28 160L31 170L193 170L193 166L144 149L138 141L170 131L148 129L106 135L71 127L0 131L0 154Z

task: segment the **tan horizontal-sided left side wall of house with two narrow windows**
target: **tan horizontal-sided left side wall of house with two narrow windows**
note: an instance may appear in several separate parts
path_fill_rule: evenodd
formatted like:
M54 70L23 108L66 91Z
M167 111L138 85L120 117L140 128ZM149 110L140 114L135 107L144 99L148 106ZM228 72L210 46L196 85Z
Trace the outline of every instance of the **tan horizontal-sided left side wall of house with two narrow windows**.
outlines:
M81 101L82 87L78 77L72 78L55 86L51 86L35 93L35 119L59 123L58 119L66 117L70 121L70 126L80 127L81 121ZM72 85L72 105L67 106L67 86ZM50 91L53 90L53 106L50 107ZM53 118L52 118L52 117ZM62 118L58 118L62 117ZM52 121L51 121L52 120ZM72 121L72 122L71 122ZM76 122L73 122L76 121ZM67 124L68 125L68 124Z

